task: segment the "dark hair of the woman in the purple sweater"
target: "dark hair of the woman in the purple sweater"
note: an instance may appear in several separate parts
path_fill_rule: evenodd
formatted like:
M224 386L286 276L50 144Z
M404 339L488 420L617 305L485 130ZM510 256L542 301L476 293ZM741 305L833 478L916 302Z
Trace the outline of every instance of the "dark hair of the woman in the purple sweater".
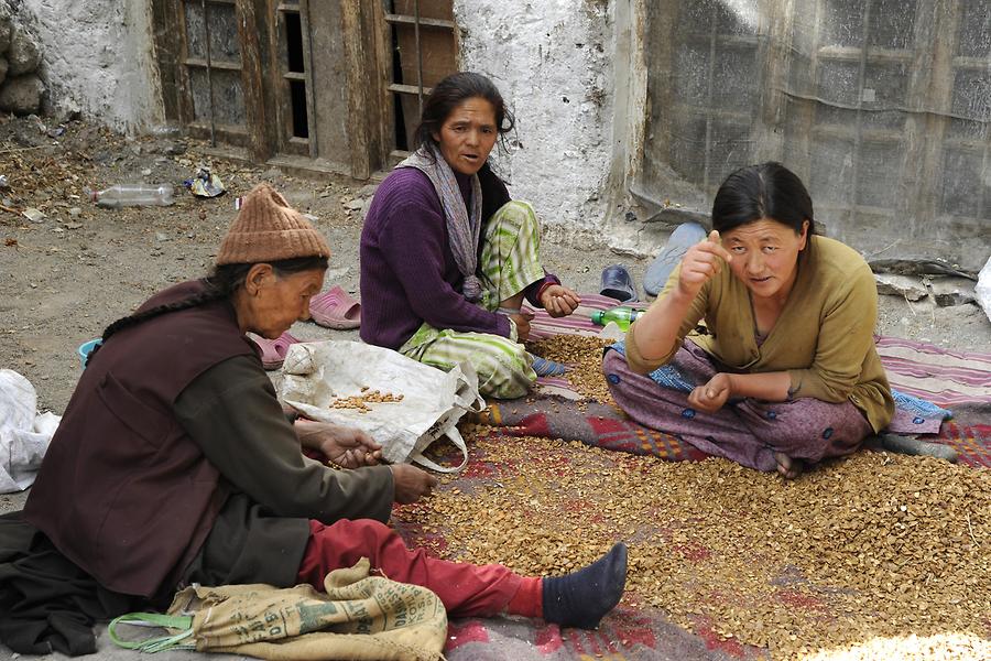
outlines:
M502 100L496 85L486 76L473 72L458 72L437 83L423 104L420 126L413 134L413 149L427 144L437 147L434 133L440 132L440 127L455 108L476 97L492 104L496 111L496 129L499 131L499 147L505 150L505 136L516 126L516 119L505 107L505 101Z

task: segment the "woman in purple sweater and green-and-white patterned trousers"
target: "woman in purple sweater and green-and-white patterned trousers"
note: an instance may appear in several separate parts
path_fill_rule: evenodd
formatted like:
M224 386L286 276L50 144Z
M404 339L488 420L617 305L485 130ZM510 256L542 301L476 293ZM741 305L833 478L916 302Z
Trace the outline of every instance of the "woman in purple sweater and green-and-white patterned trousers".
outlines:
M482 394L522 397L563 366L522 346L524 297L551 316L578 295L541 266L533 208L510 199L489 154L513 118L492 82L458 73L423 107L416 151L372 199L361 232L361 338L434 367L475 367Z

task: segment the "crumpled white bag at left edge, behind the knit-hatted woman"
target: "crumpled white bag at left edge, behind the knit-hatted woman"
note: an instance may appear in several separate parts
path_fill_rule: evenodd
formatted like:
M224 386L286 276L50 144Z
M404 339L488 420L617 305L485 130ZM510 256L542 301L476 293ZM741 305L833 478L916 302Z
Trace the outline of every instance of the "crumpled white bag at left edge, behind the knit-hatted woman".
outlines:
M23 491L34 484L61 420L54 413L39 415L31 381L0 369L0 494Z

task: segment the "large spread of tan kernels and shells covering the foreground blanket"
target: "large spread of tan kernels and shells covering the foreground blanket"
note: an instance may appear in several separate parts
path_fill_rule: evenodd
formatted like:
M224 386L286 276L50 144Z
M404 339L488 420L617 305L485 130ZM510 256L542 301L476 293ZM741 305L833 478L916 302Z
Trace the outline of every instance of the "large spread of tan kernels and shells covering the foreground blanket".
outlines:
M487 477L398 512L442 556L554 575L623 540L629 603L774 659L991 658L989 470L864 452L786 481L466 433Z

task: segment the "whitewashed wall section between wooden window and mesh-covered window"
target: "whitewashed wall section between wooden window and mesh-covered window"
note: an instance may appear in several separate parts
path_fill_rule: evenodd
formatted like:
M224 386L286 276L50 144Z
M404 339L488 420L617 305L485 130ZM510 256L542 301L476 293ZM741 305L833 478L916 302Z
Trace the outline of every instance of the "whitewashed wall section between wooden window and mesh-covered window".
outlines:
M545 227L602 228L613 209L613 0L455 0L460 67L486 74L516 116L499 156ZM566 99L566 100L565 100Z

